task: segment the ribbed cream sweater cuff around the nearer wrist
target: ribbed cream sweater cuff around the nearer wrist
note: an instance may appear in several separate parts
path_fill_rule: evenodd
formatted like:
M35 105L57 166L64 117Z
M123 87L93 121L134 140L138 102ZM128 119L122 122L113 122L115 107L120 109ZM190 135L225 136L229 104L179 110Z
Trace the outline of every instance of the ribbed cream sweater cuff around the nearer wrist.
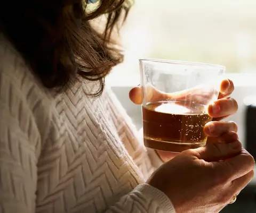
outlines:
M154 199L154 201L158 203L159 208L161 208L163 212L175 213L175 209L172 205L171 200L167 197L167 195L164 192L156 189L155 187L147 183L138 185L134 190L139 191L140 193L145 195L145 197L147 197L149 200L150 198Z

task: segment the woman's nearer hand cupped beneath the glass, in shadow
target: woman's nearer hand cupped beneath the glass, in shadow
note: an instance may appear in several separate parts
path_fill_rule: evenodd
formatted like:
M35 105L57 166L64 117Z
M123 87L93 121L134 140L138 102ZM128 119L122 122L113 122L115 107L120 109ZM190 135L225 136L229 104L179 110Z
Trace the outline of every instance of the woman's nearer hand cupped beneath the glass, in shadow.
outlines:
M235 134L223 134L225 143L181 152L159 167L147 183L163 191L177 213L219 212L253 177L254 159Z

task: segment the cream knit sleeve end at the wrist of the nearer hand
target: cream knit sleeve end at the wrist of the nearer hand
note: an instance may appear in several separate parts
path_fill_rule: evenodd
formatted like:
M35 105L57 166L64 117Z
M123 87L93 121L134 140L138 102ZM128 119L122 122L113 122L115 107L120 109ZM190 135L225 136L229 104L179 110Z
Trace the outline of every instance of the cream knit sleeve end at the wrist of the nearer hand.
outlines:
M140 184L106 213L175 213L167 196L148 184Z

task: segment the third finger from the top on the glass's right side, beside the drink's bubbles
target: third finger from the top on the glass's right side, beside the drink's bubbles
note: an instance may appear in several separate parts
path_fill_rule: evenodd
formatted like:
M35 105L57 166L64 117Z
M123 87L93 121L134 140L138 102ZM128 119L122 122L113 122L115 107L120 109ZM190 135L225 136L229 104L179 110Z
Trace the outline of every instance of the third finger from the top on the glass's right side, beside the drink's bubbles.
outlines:
M209 137L219 137L226 132L237 132L236 123L212 121L204 126L204 133Z

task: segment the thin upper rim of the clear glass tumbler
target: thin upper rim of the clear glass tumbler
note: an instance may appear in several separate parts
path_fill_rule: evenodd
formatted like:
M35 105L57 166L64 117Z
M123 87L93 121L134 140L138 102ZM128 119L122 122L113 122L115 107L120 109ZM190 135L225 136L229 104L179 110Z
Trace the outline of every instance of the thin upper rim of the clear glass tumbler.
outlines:
M140 58L139 62L154 62L154 63L166 63L166 64L175 64L175 65L188 65L188 66L207 66L207 67L218 67L219 69L226 69L223 65L218 64L207 64L200 62L188 62L188 61L175 61L167 59L156 59L156 58Z

